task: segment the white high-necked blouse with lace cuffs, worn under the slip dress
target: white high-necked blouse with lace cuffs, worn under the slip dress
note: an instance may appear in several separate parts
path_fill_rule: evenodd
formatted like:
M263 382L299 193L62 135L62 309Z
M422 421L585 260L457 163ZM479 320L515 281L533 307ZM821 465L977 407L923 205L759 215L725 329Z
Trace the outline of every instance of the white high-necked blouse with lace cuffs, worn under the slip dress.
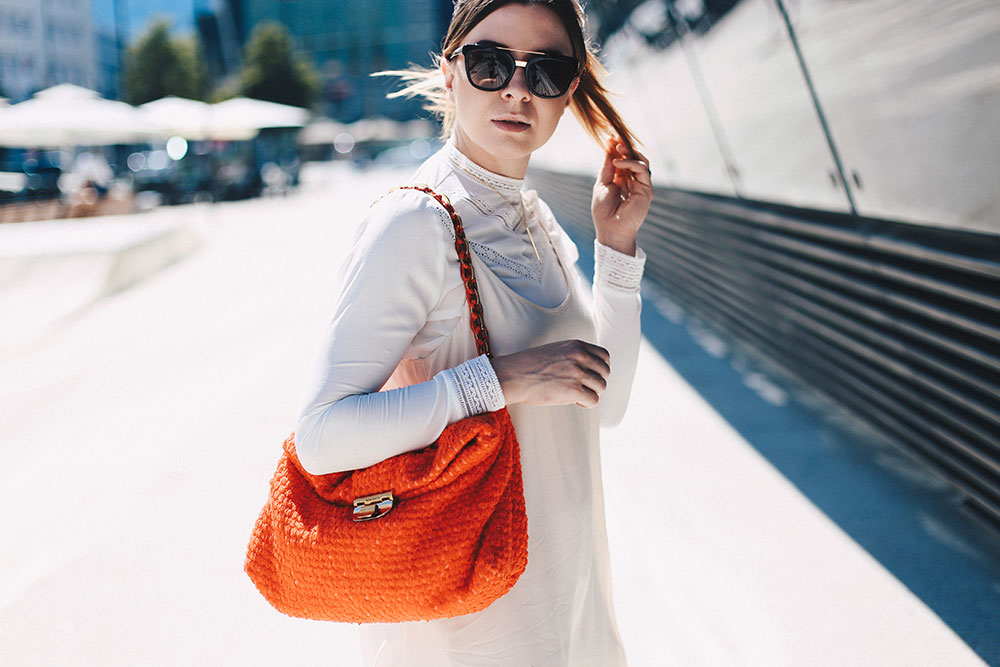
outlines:
M559 257L575 261L576 248L535 192L522 192L522 180L483 169L449 143L412 182L448 195L472 251L510 290L541 307L565 298ZM468 330L453 239L450 218L426 194L397 190L372 206L342 267L341 292L295 429L306 469L366 467L426 446L459 419L505 405L485 356L421 375L422 359L456 327ZM596 243L595 253L592 342L609 350L612 367L597 409L602 425L610 425L624 413L635 371L645 255ZM505 325L501 318L486 324L491 333Z

